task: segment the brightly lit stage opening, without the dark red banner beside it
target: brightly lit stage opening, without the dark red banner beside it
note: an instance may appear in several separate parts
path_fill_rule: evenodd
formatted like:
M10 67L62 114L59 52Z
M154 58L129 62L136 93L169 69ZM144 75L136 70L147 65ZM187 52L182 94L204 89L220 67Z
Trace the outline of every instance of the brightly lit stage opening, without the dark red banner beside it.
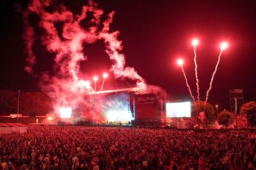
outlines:
M88 95L93 122L130 124L134 120L131 91L102 91Z

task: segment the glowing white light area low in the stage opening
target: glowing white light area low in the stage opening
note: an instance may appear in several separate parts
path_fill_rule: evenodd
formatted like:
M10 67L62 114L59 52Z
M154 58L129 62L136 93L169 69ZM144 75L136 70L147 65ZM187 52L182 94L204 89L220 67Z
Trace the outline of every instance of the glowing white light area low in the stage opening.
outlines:
M128 111L108 111L106 115L109 122L131 121L132 114Z

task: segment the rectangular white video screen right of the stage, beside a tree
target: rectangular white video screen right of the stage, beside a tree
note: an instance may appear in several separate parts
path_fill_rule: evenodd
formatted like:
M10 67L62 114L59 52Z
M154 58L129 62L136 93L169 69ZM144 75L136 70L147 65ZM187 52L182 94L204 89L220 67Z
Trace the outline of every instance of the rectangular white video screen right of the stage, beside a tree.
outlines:
M166 103L166 117L191 117L190 102Z

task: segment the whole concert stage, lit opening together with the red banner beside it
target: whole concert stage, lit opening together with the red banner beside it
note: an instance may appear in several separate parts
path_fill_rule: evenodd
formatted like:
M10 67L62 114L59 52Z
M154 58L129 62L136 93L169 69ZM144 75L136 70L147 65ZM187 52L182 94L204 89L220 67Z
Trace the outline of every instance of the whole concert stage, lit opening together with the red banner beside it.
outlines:
M140 94L134 88L98 91L86 96L90 119L104 124L131 124L163 119L160 93Z

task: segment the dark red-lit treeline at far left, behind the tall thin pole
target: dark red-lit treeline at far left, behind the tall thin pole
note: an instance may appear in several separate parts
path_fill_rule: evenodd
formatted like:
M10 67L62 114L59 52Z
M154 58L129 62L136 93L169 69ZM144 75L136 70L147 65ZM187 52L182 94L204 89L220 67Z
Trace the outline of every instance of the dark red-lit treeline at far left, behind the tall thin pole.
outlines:
M0 115L17 113L18 91L0 90ZM52 113L51 98L43 92L20 91L19 114L39 116Z

